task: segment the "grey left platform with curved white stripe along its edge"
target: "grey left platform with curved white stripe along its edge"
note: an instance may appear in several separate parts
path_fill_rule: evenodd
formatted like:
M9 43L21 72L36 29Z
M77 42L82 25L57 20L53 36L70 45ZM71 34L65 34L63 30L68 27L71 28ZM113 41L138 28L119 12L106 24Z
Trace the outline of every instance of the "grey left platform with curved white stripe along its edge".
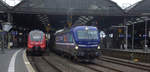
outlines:
M23 48L0 51L0 72L29 72L25 56Z

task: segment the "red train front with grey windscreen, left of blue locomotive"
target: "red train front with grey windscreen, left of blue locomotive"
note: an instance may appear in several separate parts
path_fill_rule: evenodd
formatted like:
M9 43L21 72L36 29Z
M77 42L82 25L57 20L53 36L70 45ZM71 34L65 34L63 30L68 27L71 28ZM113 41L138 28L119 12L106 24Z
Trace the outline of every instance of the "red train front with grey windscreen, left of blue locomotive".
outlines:
M42 54L46 50L46 39L44 32L33 30L28 35L27 54Z

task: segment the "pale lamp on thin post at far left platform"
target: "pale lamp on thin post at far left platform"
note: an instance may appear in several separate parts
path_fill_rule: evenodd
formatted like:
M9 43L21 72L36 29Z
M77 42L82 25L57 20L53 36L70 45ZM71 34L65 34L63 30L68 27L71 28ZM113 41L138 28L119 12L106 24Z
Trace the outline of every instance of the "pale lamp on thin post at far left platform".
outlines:
M5 36L5 33L9 32L10 29L12 28L12 24L10 22L3 22L2 23L2 30L3 30L3 34L2 34L2 39L3 39L3 48L4 48L4 36ZM8 47L8 46L7 46Z

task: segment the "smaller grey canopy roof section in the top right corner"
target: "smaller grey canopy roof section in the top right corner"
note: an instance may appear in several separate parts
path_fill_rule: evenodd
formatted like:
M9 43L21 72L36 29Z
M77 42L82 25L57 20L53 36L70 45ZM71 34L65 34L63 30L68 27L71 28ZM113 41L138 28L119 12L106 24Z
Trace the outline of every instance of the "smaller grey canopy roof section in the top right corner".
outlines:
M142 0L126 9L129 15L147 16L150 15L150 0Z

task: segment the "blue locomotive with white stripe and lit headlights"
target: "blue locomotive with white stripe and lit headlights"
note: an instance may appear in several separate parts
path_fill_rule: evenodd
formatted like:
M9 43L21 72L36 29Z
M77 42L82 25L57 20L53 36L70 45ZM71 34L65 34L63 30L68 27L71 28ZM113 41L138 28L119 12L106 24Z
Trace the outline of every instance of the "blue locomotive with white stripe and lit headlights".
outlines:
M78 59L93 60L100 55L100 37L96 27L76 26L55 33L57 52Z

